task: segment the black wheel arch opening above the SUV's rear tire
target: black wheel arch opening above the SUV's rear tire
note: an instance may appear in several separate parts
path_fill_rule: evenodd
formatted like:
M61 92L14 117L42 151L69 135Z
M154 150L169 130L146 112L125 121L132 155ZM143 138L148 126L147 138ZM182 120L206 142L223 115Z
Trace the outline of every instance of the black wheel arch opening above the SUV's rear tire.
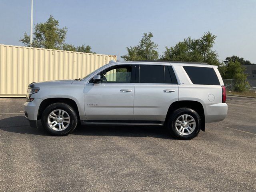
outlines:
M168 109L165 122L167 122L167 118L170 117L170 115L172 114L172 112L174 112L174 110L178 108L183 108L183 107L191 108L199 114L202 120L201 130L204 131L205 130L204 107L202 103L198 101L182 100L182 101L173 102Z

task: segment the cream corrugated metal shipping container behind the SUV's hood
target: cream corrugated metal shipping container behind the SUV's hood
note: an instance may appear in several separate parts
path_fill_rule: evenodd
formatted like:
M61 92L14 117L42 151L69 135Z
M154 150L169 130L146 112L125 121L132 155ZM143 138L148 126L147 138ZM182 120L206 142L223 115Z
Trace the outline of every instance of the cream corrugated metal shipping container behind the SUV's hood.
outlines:
M82 78L114 55L0 44L0 97L26 96L31 82Z

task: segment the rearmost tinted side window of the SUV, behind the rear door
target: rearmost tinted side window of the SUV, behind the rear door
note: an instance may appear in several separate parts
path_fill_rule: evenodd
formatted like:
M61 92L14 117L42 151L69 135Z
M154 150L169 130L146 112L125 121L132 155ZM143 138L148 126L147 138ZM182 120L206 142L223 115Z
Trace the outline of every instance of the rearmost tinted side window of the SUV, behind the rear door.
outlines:
M183 66L193 84L220 85L218 76L213 68Z

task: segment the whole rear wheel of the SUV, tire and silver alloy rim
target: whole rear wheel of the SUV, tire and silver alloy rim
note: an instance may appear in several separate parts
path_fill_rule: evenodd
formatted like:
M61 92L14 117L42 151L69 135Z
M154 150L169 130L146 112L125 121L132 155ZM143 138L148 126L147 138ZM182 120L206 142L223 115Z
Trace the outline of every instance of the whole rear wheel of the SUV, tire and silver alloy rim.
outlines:
M189 140L200 132L201 118L190 108L179 108L172 113L167 126L172 136Z

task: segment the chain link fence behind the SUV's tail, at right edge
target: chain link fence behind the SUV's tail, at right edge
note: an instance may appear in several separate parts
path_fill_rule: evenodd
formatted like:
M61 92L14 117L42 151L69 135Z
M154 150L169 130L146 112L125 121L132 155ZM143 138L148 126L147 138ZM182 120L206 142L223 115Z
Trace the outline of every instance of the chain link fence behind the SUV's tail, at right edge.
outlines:
M243 82L237 82L234 79L223 79L227 91L234 91L237 84L243 84L250 91L256 91L256 80L246 79Z

